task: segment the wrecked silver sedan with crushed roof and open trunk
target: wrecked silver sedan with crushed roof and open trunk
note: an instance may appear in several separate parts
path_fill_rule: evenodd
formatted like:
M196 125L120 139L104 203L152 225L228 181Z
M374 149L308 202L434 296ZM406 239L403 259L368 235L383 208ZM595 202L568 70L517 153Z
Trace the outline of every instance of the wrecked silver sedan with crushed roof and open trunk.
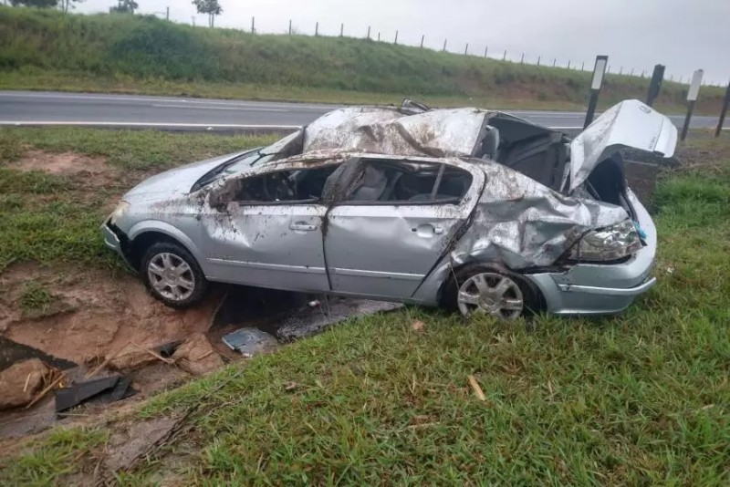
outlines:
M142 181L102 232L173 307L214 281L464 316L615 313L654 285L657 244L620 149L675 144L636 100L572 140L483 109L337 109Z

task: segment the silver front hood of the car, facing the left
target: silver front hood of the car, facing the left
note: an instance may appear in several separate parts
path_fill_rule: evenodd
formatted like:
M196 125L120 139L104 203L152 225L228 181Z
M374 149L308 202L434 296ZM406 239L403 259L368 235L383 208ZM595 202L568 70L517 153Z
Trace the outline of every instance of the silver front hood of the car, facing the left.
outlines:
M187 194L195 181L202 178L208 171L212 171L225 161L230 161L247 151L243 150L205 161L193 162L170 171L161 172L141 181L130 192L127 192L122 199L131 202L132 200L157 200Z

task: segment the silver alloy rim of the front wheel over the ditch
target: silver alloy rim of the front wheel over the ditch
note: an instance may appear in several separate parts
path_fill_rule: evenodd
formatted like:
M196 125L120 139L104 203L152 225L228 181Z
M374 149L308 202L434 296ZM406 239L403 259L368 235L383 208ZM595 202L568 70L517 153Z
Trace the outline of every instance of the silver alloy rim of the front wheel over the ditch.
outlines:
M152 288L162 297L184 301L195 290L193 269L180 256L169 252L156 254L147 264Z

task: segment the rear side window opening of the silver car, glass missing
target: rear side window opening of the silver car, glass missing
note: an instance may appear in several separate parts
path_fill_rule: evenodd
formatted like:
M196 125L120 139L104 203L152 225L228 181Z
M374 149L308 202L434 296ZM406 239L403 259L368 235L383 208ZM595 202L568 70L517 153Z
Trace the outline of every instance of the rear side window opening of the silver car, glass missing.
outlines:
M361 161L348 202L458 202L472 183L469 172L436 163Z

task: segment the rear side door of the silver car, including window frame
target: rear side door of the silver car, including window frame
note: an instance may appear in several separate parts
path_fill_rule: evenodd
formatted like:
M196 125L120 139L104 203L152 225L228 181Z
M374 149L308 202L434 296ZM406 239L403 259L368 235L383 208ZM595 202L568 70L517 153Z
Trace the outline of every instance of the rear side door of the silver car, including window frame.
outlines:
M357 183L343 181L350 191L334 202L328 212L324 247L329 282L332 290L340 294L406 299L446 252L454 234L469 217L484 187L485 174L469 164L443 165L438 160L374 157L364 163L365 168L353 171L353 180L360 178L360 188ZM436 173L431 186L422 185L423 194L405 198L392 191L392 176L387 176L388 181L383 184L377 171L369 174L369 164L432 164L427 171L429 178L433 177L434 167L439 171L448 168L462 172L468 182L463 191L441 194L443 173L441 181ZM392 170L386 169L386 175L388 171ZM417 171L409 176L421 185ZM396 188L401 181L402 174Z

